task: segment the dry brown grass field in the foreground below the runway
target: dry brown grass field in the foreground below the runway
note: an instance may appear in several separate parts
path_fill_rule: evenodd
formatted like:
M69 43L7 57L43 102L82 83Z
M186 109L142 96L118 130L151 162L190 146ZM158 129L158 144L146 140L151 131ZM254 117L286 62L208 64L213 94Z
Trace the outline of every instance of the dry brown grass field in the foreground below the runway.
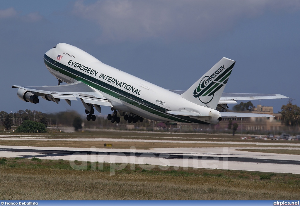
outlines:
M98 163L97 163L98 164ZM300 199L300 175L232 170L74 170L68 161L9 158L0 165L1 199ZM96 167L98 168L98 166ZM268 178L263 178L264 175Z

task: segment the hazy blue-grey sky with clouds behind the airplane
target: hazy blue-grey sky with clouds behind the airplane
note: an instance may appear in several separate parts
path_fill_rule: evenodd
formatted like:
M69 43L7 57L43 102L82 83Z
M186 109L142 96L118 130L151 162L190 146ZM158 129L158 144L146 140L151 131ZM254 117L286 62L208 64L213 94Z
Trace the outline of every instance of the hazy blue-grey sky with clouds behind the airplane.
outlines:
M57 43L166 89L187 90L222 57L236 61L224 92L279 93L299 105L300 1L1 1L0 111L77 110L21 101L12 85L56 85L43 55ZM274 106L287 99L252 101ZM103 107L103 113L110 112Z

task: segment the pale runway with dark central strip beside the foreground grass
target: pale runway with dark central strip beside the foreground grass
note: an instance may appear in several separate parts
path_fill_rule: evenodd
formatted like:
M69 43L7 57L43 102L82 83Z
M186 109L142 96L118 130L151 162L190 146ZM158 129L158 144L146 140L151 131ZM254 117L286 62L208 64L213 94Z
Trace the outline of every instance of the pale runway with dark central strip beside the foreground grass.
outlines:
M211 143L211 142L210 142ZM0 146L0 157L20 157L40 159L64 159L70 164L75 160L99 163L128 163L159 166L161 169L178 167L193 167L207 169L231 169L260 172L282 172L300 174L300 155L272 154L261 152L238 151L241 147L216 148L155 148L149 150L131 149L96 149L64 148L64 147L30 147L30 146ZM258 149L252 147L247 149ZM271 149L271 147L259 147ZM272 148L274 149L274 148ZM300 149L300 148L276 148ZM118 164L120 165L120 164ZM121 167L122 168L122 167ZM147 167L149 168L149 166ZM75 168L74 168L75 169Z

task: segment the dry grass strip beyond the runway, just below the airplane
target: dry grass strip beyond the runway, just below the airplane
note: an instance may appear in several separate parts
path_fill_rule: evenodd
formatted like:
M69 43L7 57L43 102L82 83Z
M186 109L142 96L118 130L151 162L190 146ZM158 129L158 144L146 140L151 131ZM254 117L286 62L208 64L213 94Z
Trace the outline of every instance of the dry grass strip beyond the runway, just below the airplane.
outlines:
M6 134L5 134L6 135ZM36 134L19 134L9 133L9 135L32 135L29 138L35 137ZM113 141L63 141L63 140L0 140L0 145L11 146L41 146L41 147L79 147L90 148L95 146L96 148L104 148L104 143L112 144L112 148L117 149L130 149L131 146L135 146L137 149L151 149L151 148L168 148L168 147L253 147L250 144L243 143L270 143L271 140L240 140L239 136L233 137L228 134L186 134L186 133L165 133L165 132L137 132L137 131L113 131L113 130L101 130L101 131L85 131L74 133L62 133L62 134L38 134L44 138L80 138L80 139L95 139L95 138L112 138L112 139L133 139L132 142L113 142ZM170 139L170 137L173 137ZM159 142L136 142L134 140L181 140L181 141L211 141L211 143L159 143ZM239 144L217 144L214 142L229 142L234 141ZM273 142L272 142L273 143ZM277 142L276 142L277 143ZM283 142L280 142L283 143ZM298 141L289 141L288 143L295 143L294 146L287 147L300 147ZM265 145L255 145L255 147L265 147ZM285 147L284 145L268 145L268 147Z

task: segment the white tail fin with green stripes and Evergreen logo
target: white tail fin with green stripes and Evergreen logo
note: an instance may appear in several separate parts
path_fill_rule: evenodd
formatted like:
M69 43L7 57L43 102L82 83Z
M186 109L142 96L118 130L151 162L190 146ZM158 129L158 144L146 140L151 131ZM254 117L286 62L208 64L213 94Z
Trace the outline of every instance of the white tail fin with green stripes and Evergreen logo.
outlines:
M234 60L223 57L180 96L195 104L216 109L234 64Z

